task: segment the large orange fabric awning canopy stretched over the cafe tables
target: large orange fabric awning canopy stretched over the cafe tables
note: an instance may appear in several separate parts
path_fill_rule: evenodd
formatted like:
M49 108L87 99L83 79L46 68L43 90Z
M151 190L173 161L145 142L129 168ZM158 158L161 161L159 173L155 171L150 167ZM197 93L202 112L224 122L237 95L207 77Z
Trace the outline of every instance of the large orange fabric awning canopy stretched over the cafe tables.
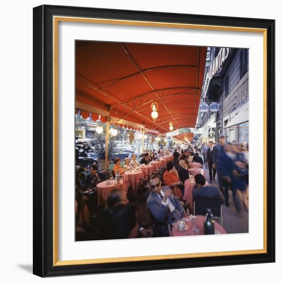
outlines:
M77 41L76 100L159 132L195 127L205 60L205 47Z

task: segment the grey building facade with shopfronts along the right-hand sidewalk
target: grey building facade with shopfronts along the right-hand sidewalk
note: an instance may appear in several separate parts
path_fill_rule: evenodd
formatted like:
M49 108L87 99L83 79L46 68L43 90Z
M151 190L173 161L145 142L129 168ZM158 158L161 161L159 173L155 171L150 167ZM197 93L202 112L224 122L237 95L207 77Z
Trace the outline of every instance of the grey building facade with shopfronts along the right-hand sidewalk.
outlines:
M219 110L199 112L197 127L203 129L202 143L249 143L249 51L248 49L208 48L202 101L218 103ZM244 146L245 146L244 145Z

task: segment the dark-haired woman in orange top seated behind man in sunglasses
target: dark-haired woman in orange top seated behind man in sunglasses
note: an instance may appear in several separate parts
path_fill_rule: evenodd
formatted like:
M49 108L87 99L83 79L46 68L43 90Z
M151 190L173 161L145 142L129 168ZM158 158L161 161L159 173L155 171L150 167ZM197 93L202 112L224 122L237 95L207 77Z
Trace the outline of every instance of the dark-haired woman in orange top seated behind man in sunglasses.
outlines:
M172 189L172 191L176 196L182 197L184 195L184 187L178 179L178 173L172 162L167 163L167 170L164 173L163 182L164 185L175 188Z

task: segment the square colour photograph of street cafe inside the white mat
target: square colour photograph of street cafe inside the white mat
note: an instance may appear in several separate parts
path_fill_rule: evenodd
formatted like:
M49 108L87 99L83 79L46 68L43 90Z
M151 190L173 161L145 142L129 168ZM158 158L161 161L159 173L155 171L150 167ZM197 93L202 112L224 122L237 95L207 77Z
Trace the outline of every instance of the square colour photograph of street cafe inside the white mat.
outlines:
M248 48L75 41L75 240L248 233L249 71Z

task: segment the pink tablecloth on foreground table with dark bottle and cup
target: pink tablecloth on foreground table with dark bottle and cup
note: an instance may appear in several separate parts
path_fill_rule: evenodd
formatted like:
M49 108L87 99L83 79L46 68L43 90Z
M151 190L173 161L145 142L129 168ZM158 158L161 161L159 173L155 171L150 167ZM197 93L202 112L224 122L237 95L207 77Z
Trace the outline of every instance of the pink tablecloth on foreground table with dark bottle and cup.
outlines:
M175 226L173 226L170 236L204 235L205 216L197 215L196 218L194 220L192 219L191 221L186 221L187 219L189 220L189 217L184 219L189 228L185 231L179 231L175 228ZM198 233L193 230L193 227L195 226L197 226L199 229ZM226 234L225 229L216 221L214 221L214 231L215 234Z

